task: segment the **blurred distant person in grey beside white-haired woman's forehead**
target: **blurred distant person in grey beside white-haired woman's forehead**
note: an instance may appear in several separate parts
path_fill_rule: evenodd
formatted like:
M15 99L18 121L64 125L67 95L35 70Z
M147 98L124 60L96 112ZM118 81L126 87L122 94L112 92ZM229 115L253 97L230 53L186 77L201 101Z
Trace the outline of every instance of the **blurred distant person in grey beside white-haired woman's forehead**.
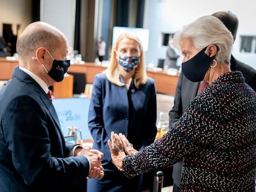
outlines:
M164 68L174 68L179 70L179 66L177 66L177 59L181 55L178 54L177 49L174 47L173 38L169 40L168 48L166 50L166 58L164 59Z

